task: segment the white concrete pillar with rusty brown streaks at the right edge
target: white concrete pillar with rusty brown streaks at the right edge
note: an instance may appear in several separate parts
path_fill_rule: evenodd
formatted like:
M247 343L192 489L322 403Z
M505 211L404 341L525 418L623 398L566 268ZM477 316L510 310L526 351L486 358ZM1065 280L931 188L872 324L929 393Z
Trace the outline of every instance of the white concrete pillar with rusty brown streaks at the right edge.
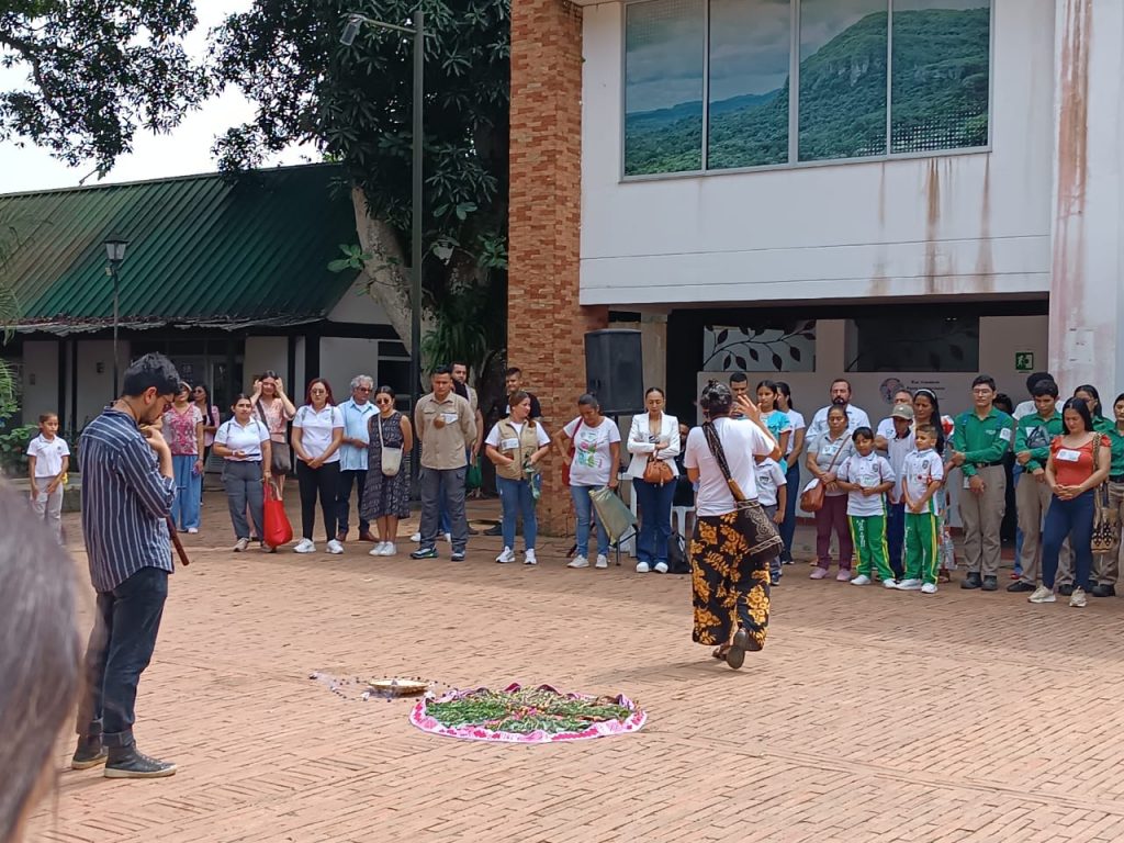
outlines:
M1124 2L1057 0L1050 371L1124 388Z

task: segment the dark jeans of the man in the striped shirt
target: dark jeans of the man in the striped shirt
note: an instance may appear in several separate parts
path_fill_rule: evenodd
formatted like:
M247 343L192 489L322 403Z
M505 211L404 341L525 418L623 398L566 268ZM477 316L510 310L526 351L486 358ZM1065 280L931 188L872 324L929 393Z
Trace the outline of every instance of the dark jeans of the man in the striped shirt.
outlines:
M85 690L76 731L106 746L132 746L140 674L152 661L167 599L167 571L142 568L112 591L99 592L85 651Z

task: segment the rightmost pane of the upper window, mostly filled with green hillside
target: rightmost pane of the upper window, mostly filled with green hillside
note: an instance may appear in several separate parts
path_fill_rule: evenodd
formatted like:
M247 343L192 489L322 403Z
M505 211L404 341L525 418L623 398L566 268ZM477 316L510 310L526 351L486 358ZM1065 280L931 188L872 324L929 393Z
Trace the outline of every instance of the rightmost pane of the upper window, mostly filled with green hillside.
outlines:
M986 146L990 0L894 0L892 152Z

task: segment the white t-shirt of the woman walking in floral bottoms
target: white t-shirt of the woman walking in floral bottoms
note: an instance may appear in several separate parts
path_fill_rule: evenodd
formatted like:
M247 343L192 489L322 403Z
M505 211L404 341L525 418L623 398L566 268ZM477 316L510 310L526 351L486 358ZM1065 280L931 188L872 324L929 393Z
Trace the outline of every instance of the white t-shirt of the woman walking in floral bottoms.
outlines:
M774 442L760 427L728 418L717 418L714 423L726 452L729 463L729 474L749 499L758 497L756 471L753 457L756 454L771 454ZM706 444L706 434L701 427L695 427L687 435L687 448L683 452L683 465L698 469L699 489L695 501L695 511L700 516L726 515L734 511L734 496L726 484L718 462Z

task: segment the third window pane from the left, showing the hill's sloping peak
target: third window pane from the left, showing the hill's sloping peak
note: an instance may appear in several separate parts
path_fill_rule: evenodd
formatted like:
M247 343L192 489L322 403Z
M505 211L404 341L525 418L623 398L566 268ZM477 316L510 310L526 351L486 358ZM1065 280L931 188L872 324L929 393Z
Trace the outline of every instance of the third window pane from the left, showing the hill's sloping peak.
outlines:
M888 8L800 3L800 161L886 154Z

